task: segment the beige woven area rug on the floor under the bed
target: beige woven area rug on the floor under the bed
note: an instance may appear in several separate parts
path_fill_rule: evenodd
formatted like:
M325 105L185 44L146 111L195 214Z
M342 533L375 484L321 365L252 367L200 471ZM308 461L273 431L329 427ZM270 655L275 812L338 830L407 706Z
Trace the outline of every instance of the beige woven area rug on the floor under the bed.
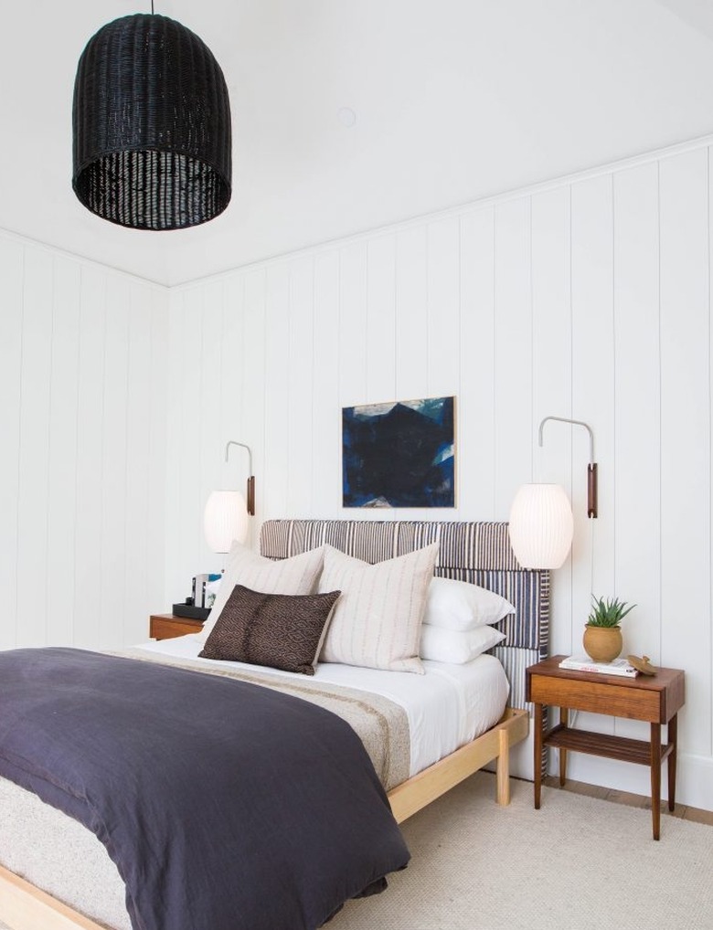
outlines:
M409 868L329 930L713 930L713 829L568 791L469 778L404 824ZM3 924L0 924L3 927Z

